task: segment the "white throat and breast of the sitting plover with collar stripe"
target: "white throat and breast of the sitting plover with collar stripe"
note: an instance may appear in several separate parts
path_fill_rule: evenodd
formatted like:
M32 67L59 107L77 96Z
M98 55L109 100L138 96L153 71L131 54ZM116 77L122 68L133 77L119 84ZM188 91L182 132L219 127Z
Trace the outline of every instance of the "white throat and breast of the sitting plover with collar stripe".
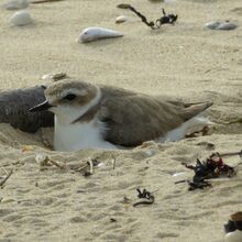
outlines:
M96 97L86 106L65 106L52 109L55 113L54 148L56 151L116 148L114 145L102 140L101 133L105 131L105 124L97 118L87 122L74 122L91 107L98 105L100 98L101 92L98 89Z

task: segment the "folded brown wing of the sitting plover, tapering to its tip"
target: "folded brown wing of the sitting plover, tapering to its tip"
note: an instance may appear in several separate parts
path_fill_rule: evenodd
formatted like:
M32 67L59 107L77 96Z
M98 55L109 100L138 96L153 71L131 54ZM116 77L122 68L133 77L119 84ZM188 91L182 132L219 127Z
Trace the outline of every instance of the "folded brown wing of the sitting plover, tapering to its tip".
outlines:
M184 108L148 96L131 95L106 100L99 118L106 123L107 141L135 146L165 135L206 108L205 103Z

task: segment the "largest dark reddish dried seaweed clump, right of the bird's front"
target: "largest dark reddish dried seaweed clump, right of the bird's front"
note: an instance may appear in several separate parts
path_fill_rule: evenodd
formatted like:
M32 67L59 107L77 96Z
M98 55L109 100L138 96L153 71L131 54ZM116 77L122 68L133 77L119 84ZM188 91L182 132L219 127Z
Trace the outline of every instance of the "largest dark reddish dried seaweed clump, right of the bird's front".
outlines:
M204 189L206 187L211 187L208 179L218 178L221 176L232 177L237 174L235 167L229 166L224 163L222 156L230 155L242 155L242 151L235 153L212 153L205 162L197 158L196 165L185 165L186 168L193 169L195 175L193 180L179 180L175 184L188 183L188 190ZM240 165L240 164L239 164Z

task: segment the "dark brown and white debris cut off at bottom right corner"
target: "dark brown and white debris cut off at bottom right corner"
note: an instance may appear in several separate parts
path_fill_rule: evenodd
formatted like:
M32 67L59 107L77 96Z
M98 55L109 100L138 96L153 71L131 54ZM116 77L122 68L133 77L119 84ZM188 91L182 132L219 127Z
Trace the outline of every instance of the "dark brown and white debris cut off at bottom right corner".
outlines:
M230 216L230 220L224 224L224 242L242 241L242 211Z

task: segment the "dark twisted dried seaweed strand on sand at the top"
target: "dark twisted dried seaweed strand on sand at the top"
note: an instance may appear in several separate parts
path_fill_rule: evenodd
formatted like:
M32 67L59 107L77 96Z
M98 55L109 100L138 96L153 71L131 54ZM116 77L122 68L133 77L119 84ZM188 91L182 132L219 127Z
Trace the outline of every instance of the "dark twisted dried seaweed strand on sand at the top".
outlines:
M178 15L175 15L175 14L166 14L165 10L162 9L163 16L161 16L156 21L150 21L148 22L146 16L143 15L141 12L139 12L131 4L121 3L121 4L118 4L117 8L131 10L132 12L134 12L142 20L143 23L145 23L152 30L160 29L163 24L174 24L177 21L177 18L178 18Z

